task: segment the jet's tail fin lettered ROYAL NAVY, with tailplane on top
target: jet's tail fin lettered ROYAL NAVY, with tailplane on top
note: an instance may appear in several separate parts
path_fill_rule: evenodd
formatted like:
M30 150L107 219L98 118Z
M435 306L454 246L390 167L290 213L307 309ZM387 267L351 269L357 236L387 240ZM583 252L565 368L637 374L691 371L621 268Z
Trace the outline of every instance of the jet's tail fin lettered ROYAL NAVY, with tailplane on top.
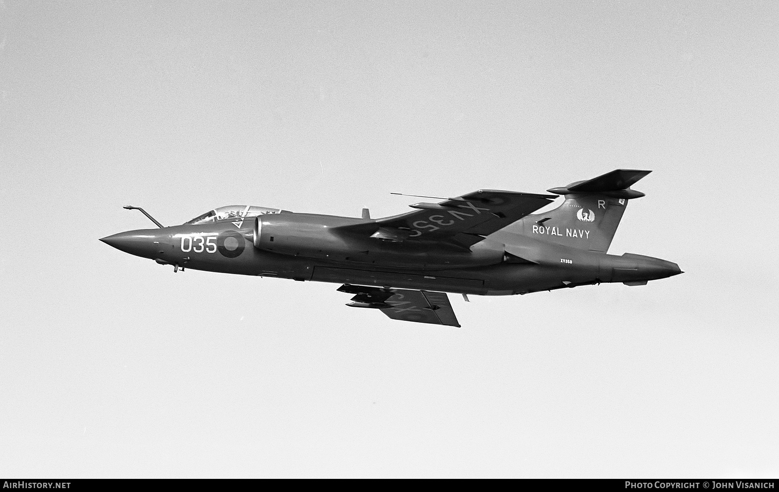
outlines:
M629 199L643 193L630 186L652 171L617 169L588 181L576 181L548 192L566 201L547 213L531 214L506 230L589 251L608 251Z

